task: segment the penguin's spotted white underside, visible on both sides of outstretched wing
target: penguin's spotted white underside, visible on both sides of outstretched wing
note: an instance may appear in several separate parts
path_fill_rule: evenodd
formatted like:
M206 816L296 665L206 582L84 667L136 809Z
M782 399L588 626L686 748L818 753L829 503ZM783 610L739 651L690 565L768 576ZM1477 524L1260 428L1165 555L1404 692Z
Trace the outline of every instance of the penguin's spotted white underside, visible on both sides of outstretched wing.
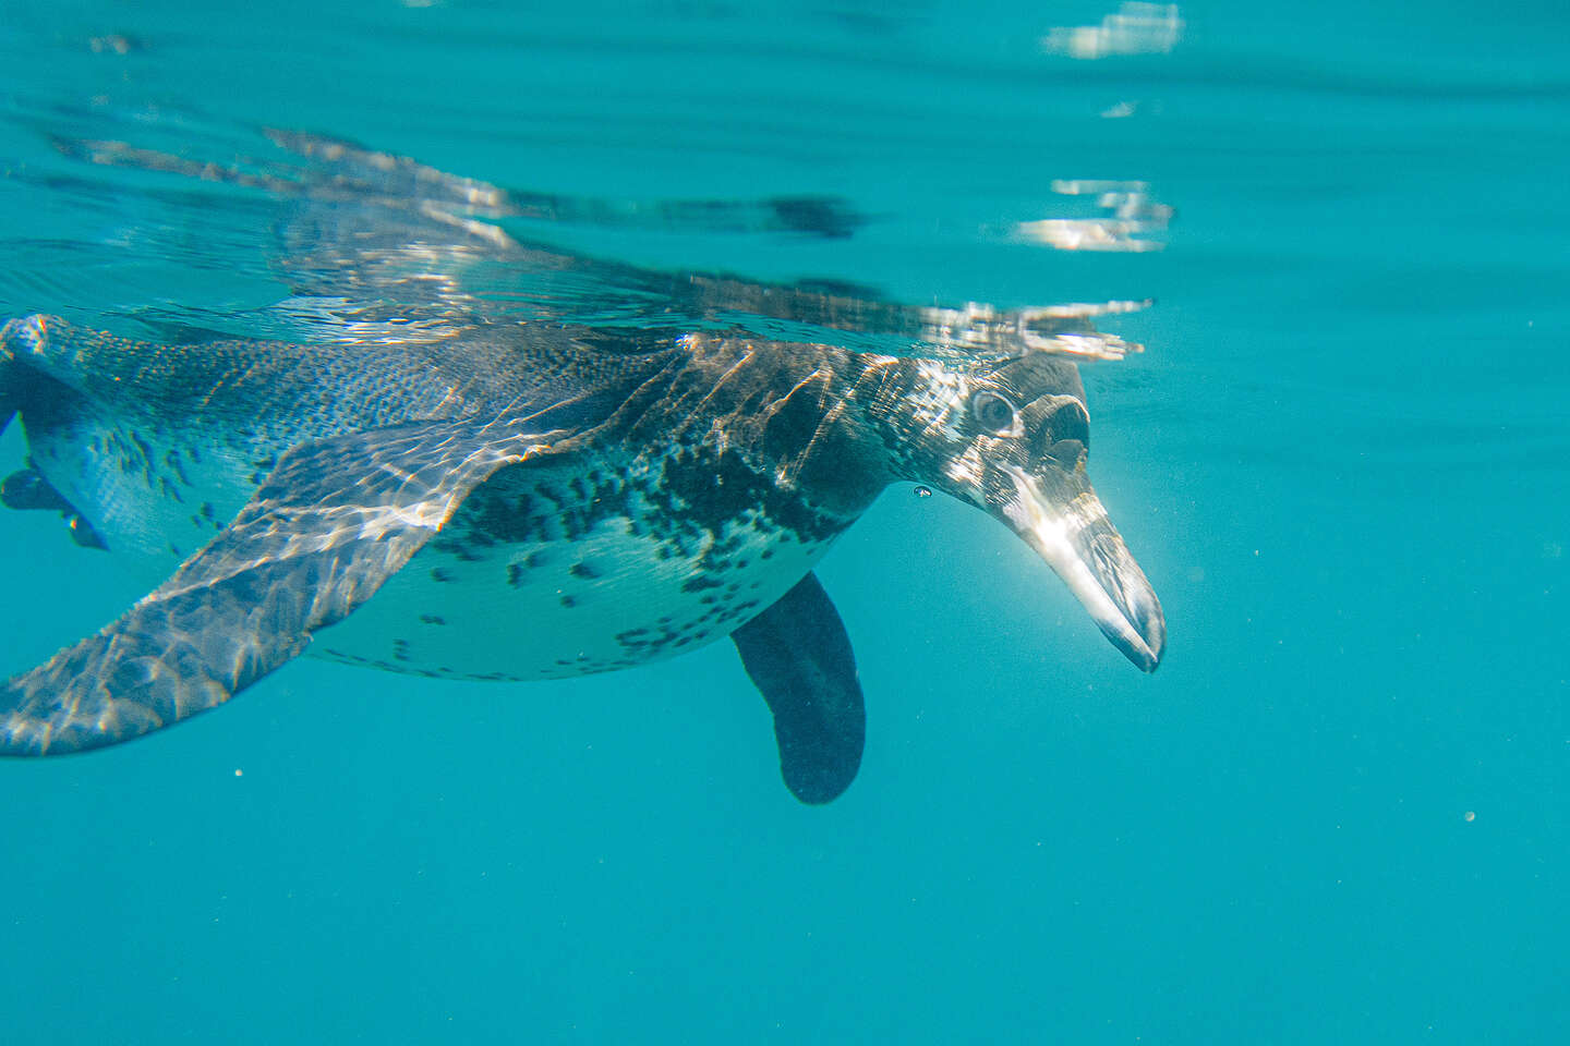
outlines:
M212 433L94 419L36 436L38 467L149 588L217 536L275 463ZM667 466L539 464L493 478L308 652L466 679L626 668L728 635L801 580L837 533L804 536L746 499L696 525L691 505L663 488Z

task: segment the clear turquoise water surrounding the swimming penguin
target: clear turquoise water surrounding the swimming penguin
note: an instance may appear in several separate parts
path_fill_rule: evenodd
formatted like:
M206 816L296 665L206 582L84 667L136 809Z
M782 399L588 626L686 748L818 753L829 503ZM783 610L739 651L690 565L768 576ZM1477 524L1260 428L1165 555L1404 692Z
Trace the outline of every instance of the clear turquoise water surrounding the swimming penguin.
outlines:
M1570 19L1113 13L0 3L0 315L276 321L276 193L57 147L267 168L262 127L865 220L509 226L641 267L1154 298L1085 383L1171 635L1141 676L1008 532L895 488L820 569L870 715L823 809L728 646L532 685L301 660L0 764L0 1041L1565 1041ZM1110 227L1033 224L1112 218L1075 179L1141 183L1112 238L1148 246L1042 242ZM5 671L140 594L36 516L0 514Z

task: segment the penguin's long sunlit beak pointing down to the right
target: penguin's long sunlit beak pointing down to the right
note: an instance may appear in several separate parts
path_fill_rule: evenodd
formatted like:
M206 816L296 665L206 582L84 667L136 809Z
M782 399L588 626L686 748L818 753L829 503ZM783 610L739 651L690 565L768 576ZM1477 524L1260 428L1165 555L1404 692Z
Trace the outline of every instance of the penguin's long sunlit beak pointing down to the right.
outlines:
M994 511L1057 571L1124 657L1156 671L1167 646L1162 604L1083 472L1050 477L1061 491L1049 494L1042 478L1013 464L999 469L1006 481Z

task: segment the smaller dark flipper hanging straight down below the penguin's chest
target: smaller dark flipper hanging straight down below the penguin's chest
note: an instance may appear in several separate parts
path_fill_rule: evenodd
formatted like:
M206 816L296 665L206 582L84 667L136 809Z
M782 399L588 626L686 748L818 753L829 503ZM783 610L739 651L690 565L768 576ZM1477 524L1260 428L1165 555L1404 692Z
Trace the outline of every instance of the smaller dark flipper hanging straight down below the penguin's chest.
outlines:
M802 803L838 798L862 765L867 710L845 623L816 576L730 638L774 714L785 786Z

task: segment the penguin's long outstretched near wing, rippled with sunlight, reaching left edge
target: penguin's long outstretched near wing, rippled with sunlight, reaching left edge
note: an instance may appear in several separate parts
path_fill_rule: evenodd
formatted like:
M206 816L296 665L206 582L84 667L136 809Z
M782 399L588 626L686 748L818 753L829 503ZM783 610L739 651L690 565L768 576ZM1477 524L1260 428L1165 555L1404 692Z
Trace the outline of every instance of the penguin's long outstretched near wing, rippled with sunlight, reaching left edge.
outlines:
M565 434L463 420L297 447L168 582L0 687L0 754L113 745L223 704L369 599L496 469Z

